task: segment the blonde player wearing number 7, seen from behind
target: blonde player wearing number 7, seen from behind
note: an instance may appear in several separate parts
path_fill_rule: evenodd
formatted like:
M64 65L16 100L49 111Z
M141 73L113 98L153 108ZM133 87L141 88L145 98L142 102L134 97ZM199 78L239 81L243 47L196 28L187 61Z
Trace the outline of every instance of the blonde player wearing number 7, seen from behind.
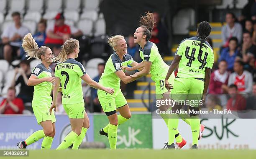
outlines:
M101 89L106 94L112 95L114 93L114 89L103 87L90 78L84 66L74 60L78 57L78 53L79 41L70 38L64 42L61 52L56 57L56 61L58 61L59 64L55 68L55 87L50 114L52 109L56 111L56 98L61 83L63 88L62 105L69 117L72 129L72 132L64 138L64 141L61 142L57 149L67 149L71 144L73 144L72 149L78 149L89 128L89 118L84 111L82 80L95 89Z

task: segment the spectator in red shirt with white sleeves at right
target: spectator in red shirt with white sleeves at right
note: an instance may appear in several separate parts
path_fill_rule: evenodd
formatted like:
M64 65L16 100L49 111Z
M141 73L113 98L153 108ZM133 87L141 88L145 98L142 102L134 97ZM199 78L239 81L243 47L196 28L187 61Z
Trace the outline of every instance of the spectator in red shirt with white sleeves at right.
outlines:
M238 60L234 64L234 71L228 78L228 85L235 84L240 93L251 93L253 77L250 72L243 70L243 62Z

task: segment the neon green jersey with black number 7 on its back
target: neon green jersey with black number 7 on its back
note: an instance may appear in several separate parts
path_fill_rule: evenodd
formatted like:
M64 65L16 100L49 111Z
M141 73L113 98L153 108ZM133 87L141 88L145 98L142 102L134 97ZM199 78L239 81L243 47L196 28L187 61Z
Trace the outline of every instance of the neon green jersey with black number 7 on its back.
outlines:
M69 58L55 68L55 77L59 77L62 87L62 104L84 102L81 77L86 74L84 66Z

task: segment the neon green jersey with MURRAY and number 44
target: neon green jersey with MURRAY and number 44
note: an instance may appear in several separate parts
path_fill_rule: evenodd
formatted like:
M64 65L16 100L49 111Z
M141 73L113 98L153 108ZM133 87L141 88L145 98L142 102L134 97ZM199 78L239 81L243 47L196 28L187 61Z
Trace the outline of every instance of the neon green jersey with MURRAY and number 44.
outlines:
M212 69L214 54L207 41L203 42L200 53L199 50L200 39L198 37L186 38L179 44L175 53L181 56L178 77L205 78L205 67Z

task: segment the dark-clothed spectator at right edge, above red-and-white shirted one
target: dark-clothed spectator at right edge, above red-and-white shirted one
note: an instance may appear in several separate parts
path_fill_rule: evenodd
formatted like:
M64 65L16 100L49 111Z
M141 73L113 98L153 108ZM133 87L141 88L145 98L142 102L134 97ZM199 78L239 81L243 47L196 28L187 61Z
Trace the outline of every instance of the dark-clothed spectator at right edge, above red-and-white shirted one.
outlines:
M248 63L251 57L256 57L256 45L253 45L252 35L247 31L243 33L242 50L238 56L245 63Z

